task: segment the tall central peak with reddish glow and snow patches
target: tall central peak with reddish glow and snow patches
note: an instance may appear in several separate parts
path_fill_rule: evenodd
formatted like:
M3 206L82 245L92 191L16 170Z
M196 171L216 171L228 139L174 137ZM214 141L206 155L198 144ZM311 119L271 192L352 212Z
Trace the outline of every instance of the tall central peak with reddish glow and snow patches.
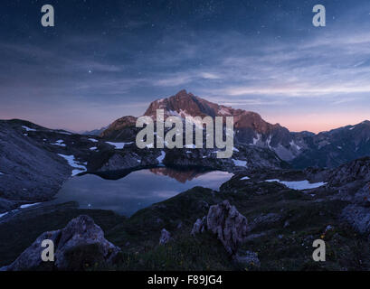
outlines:
M157 109L164 110L165 118L169 116L233 117L234 141L270 149L284 161L293 159L307 146L301 135L292 135L287 128L279 124L271 125L255 112L218 105L187 93L186 90L181 90L170 98L153 101L144 116L156 120ZM136 117L121 117L112 123L101 136L110 139L132 140L130 134L135 131L135 122Z

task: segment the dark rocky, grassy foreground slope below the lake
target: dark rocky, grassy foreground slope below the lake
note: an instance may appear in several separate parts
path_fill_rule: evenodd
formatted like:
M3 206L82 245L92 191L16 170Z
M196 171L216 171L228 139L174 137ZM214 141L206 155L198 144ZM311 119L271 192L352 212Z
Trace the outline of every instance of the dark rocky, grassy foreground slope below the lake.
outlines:
M302 176L326 184L296 191L262 181ZM74 203L29 208L0 223L0 266L45 269L25 260L49 234L73 240L57 242L62 261L51 270L369 270L369 185L365 158L330 172L238 172L220 191L195 187L130 218ZM326 241L327 262L312 260L318 238ZM109 248L114 258L104 253ZM73 258L65 263L66 256Z

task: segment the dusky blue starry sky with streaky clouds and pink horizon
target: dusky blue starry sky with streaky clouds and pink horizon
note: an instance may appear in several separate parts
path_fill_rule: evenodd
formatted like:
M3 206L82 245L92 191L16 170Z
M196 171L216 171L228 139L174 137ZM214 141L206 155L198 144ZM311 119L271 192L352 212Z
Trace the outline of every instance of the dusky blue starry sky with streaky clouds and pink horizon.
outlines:
M181 89L292 131L369 119L370 1L1 1L0 119L81 132Z

